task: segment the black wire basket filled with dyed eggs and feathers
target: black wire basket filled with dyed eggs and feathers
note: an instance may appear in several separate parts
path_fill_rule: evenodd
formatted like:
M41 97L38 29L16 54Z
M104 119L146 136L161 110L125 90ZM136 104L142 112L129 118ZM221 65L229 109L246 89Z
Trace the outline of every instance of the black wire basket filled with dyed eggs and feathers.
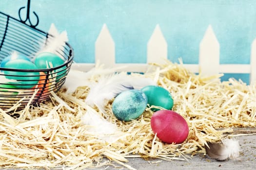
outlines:
M24 108L50 99L65 83L74 51L67 33L49 33L0 12L0 108Z

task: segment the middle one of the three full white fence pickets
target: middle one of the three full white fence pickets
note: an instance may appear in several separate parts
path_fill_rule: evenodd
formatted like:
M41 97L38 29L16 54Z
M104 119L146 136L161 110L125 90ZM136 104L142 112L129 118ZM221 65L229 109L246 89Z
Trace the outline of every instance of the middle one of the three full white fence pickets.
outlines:
M163 63L167 59L167 42L157 24L147 44L147 63Z

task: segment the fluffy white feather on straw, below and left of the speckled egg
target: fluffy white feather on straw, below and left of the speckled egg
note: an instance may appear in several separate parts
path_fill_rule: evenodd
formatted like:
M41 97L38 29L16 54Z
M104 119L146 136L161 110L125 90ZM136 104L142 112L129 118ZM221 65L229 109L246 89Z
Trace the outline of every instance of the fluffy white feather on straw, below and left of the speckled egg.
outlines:
M86 110L85 115L81 118L81 123L88 125L87 132L108 143L113 143L122 136L123 133L116 124L103 119L98 115L98 112L88 105Z

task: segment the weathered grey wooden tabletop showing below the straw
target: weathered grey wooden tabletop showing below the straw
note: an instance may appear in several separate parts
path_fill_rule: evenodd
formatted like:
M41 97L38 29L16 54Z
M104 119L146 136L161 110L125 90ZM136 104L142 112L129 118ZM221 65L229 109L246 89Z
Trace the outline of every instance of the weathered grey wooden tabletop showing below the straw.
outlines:
M237 160L217 161L207 155L196 155L188 161L146 161L141 158L128 158L126 163L136 170L256 170L256 129L236 129L236 134L245 133L245 136L236 136L240 145L240 156ZM254 133L249 135L248 133ZM118 166L118 165L117 165ZM120 166L119 166L120 167ZM107 170L115 170L108 167ZM116 169L118 170L118 169ZM128 170L120 167L120 170Z

